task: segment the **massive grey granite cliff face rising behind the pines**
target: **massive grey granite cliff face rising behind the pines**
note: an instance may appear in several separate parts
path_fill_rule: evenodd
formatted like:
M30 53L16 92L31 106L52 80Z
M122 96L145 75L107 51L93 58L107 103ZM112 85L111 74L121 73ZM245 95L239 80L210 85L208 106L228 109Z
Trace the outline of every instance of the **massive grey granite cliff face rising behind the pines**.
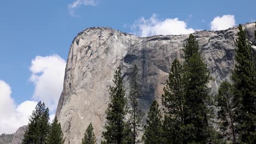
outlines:
M248 39L254 41L255 23L244 26ZM200 31L194 35L199 41L202 57L214 78L208 87L216 94L223 81L230 81L235 66L237 27L224 31ZM97 141L105 123L109 100L108 88L121 65L124 85L133 65L137 64L141 77L142 97L139 99L145 118L154 99L161 102L162 89L174 58L183 59L183 47L189 35L156 35L140 38L111 28L88 28L74 38L69 50L63 91L57 106L65 143L81 143L83 134L92 122Z

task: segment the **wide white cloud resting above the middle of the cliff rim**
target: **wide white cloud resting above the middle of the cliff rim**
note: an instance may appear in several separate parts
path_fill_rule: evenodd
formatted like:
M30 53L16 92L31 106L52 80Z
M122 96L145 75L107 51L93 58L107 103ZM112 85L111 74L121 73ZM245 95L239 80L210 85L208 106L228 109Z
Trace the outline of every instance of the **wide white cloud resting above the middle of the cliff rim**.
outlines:
M178 18L159 20L156 14L153 14L149 19L142 17L132 25L131 29L136 35L141 37L160 34L190 34L195 32L195 29L187 28L187 23Z

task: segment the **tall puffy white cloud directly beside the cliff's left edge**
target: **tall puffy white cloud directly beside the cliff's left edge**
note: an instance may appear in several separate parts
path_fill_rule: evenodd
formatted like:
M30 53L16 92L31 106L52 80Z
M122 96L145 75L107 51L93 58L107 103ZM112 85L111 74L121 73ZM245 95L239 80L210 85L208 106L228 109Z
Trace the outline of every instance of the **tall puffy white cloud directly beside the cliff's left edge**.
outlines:
M30 80L34 83L33 99L40 100L55 112L63 88L66 61L58 55L37 56L31 62Z

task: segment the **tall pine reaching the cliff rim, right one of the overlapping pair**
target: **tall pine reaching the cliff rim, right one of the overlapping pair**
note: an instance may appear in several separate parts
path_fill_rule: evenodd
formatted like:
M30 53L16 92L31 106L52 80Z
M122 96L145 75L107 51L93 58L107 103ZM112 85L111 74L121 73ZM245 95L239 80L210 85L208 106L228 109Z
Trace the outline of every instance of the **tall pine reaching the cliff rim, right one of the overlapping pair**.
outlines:
M208 102L207 83L210 80L210 72L203 62L199 44L195 37L190 34L185 53L185 106L184 124L190 129L187 142L207 143L211 140L214 132L210 125L211 110ZM185 143L187 143L185 142Z

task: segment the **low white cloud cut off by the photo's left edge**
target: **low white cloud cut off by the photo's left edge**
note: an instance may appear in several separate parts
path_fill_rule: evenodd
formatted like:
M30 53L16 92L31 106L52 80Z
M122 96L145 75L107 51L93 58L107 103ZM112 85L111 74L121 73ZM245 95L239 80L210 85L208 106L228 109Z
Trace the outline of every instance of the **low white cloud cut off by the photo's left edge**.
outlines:
M0 80L0 134L15 133L19 127L26 125L36 105L36 101L28 100L16 105L11 98L10 86Z

